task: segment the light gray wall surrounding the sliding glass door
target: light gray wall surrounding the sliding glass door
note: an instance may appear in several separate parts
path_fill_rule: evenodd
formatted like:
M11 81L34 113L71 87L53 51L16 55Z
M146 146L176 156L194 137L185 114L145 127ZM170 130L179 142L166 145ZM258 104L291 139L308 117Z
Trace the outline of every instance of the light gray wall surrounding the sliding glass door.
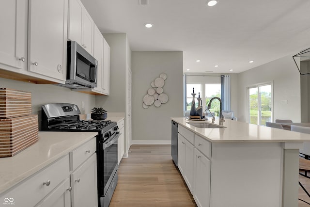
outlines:
M300 75L292 55L238 74L238 121L248 122L247 87L273 82L273 121L291 119L300 122ZM281 104L287 100L287 104Z

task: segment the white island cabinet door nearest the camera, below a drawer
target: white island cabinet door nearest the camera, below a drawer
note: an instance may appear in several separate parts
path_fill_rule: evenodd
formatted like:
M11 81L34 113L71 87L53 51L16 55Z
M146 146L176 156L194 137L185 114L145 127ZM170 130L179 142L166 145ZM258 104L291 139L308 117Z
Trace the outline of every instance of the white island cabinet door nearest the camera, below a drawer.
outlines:
M194 200L198 207L210 206L211 161L195 149L195 191Z

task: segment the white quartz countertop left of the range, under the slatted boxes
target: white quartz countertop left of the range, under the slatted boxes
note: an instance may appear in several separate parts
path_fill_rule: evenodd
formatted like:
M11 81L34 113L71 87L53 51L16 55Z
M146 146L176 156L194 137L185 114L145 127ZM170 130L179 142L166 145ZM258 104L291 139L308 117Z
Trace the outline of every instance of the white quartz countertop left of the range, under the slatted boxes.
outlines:
M13 157L0 158L0 193L69 154L97 134L40 131L38 142Z

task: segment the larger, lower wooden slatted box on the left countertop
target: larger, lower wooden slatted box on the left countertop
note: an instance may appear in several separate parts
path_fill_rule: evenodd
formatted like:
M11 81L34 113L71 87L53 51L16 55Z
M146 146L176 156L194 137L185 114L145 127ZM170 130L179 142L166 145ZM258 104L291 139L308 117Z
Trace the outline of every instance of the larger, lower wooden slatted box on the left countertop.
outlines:
M16 155L38 138L38 115L0 119L0 158Z

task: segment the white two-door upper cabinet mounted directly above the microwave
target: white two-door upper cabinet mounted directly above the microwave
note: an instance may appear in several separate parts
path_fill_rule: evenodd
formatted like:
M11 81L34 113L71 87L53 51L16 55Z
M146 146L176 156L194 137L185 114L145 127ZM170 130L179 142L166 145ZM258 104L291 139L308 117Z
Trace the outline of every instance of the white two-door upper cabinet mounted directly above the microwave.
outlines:
M68 39L78 42L93 55L94 23L80 0L69 0L68 24Z

